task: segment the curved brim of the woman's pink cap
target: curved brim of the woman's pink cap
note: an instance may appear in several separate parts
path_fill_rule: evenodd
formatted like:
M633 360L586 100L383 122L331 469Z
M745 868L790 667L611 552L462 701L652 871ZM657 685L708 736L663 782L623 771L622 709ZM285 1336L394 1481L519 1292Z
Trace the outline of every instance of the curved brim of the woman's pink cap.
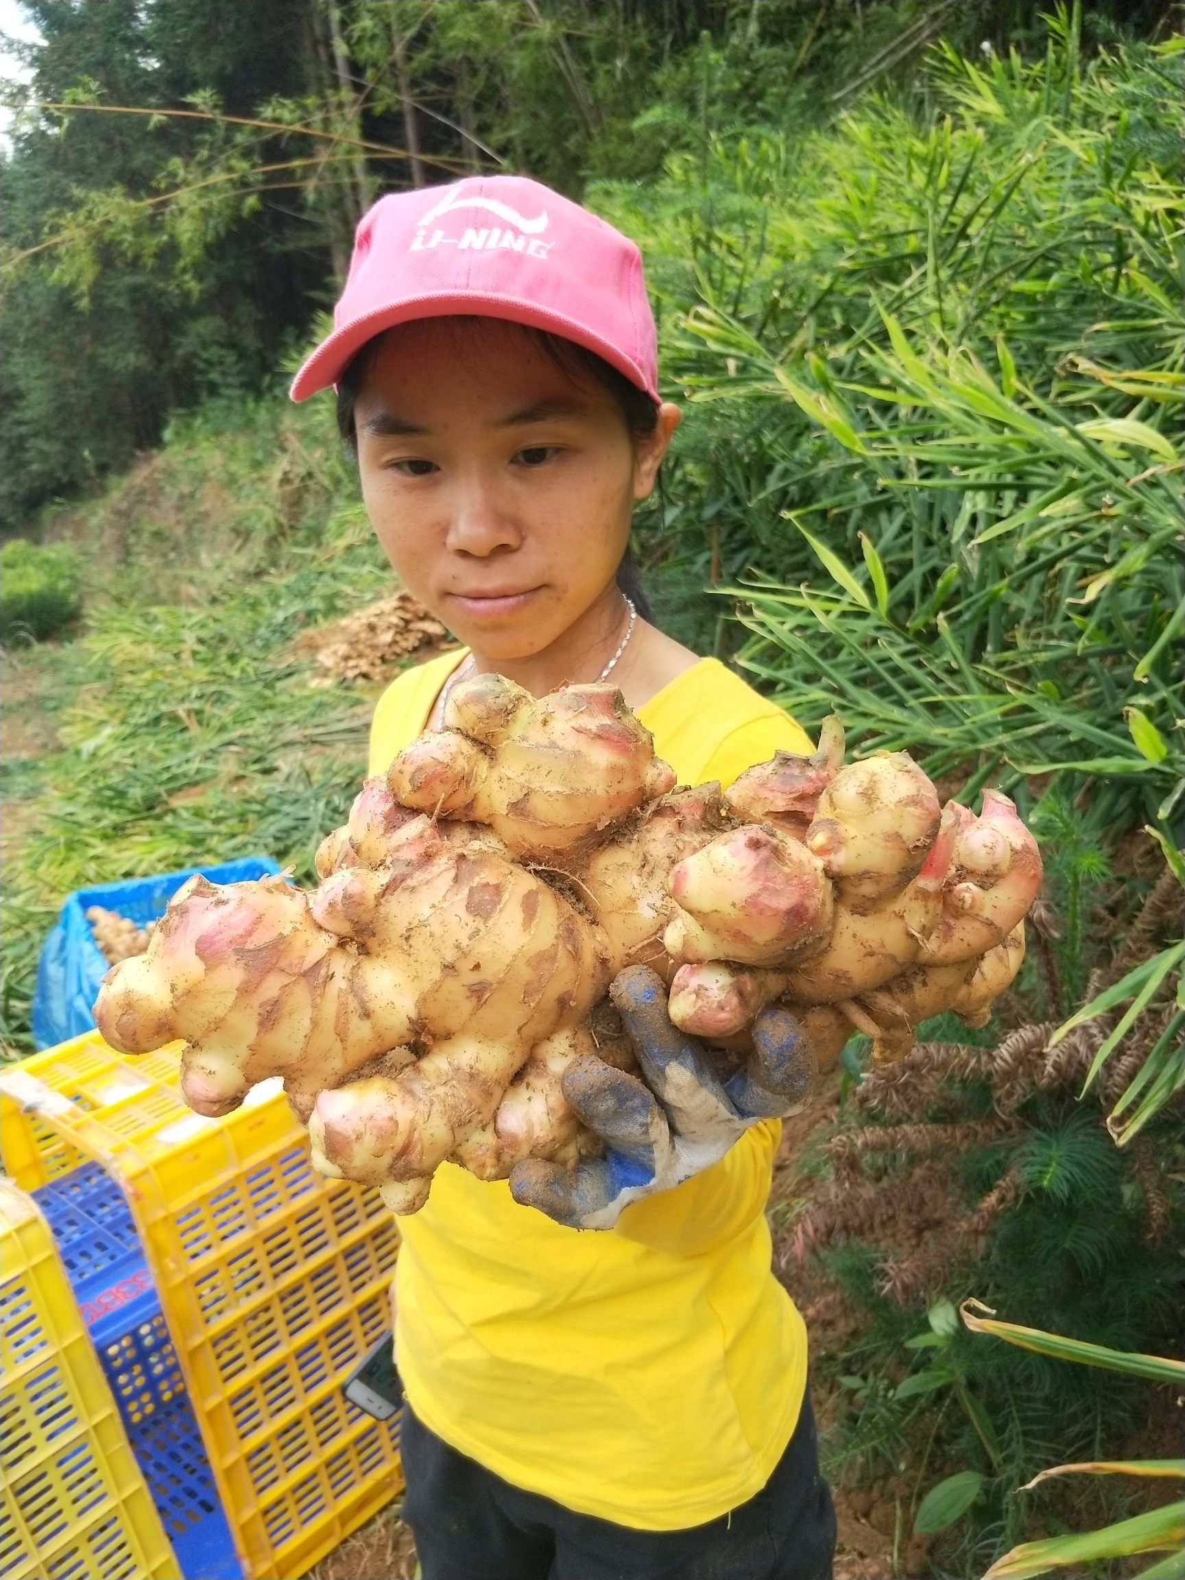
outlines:
M583 324L577 324L562 313L542 308L537 302L525 302L506 295L483 295L480 291L449 291L408 297L351 319L349 324L343 324L341 329L335 329L332 335L322 340L316 351L303 362L300 371L292 379L289 389L291 398L307 400L310 395L316 395L318 390L338 384L357 352L362 351L368 340L381 335L386 329L393 329L397 324L411 324L422 318L449 318L453 314L501 318L510 324L526 324L529 329L542 329L553 335L561 335L564 340L572 340L578 346L594 351L610 367L627 378L630 384L637 384L640 390L645 390L653 401L659 400L657 389L651 387L641 368L626 357L618 346L602 340Z

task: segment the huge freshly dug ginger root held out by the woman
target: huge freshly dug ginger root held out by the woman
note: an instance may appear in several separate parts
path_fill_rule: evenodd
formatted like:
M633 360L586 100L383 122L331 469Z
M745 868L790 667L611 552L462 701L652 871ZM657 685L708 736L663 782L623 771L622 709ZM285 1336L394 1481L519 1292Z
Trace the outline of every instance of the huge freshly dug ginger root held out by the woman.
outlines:
M316 1166L398 1212L446 1160L501 1179L596 1149L564 1078L596 1055L629 1066L604 1003L627 965L656 969L675 1024L730 1065L788 1006L820 1068L852 1027L890 1059L935 1008L980 1024L1019 967L1041 864L1011 803L940 811L904 754L842 766L837 719L812 757L750 771L763 822L716 784L676 788L607 686L532 698L477 676L444 725L367 781L313 894L190 880L95 1006L125 1052L186 1041L198 1112L281 1076ZM915 964L931 937L940 964Z

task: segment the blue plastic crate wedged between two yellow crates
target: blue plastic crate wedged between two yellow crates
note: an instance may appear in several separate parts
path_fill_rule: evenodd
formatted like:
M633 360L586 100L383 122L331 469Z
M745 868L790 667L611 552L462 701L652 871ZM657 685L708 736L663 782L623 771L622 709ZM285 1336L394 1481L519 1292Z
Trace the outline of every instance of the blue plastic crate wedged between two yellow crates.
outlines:
M35 1190L183 1580L242 1580L123 1193L96 1163Z

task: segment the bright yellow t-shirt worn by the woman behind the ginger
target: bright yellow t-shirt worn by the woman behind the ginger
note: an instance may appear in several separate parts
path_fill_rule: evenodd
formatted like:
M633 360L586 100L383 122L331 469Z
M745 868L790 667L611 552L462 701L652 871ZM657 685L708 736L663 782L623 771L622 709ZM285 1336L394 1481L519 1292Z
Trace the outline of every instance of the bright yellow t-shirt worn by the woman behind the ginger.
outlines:
M461 657L387 687L371 774L423 730ZM777 747L811 750L716 659L638 717L681 784L728 785ZM752 1498L806 1387L806 1329L773 1277L765 1221L779 1134L755 1125L611 1231L561 1228L504 1180L442 1163L427 1207L400 1221L395 1273L398 1367L420 1420L515 1487L635 1529L684 1529Z

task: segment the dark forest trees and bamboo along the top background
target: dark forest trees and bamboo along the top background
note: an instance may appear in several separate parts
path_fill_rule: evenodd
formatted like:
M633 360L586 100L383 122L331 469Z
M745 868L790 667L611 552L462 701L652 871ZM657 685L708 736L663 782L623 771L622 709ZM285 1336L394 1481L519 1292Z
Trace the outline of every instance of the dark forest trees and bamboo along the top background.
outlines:
M259 389L382 190L523 171L580 196L904 85L942 30L1043 47L1040 0L27 0L3 161L8 529ZM1098 40L1168 0L1095 0ZM792 161L793 161L792 153ZM679 250L670 254L679 264ZM665 272L665 265L659 269Z

